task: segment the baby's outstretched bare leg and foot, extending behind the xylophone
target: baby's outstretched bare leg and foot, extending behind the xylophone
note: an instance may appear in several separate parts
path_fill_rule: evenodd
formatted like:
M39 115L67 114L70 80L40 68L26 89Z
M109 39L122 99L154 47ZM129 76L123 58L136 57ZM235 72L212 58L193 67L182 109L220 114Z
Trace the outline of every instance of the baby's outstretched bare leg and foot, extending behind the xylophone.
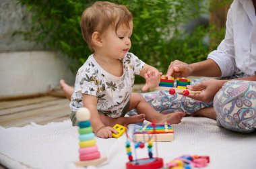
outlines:
M145 114L146 120L156 120L157 123L164 123L165 121L170 124L177 124L181 122L181 119L185 116L184 112L174 112L163 115L156 111L139 93L132 93L130 99L131 109L137 109L137 113Z

